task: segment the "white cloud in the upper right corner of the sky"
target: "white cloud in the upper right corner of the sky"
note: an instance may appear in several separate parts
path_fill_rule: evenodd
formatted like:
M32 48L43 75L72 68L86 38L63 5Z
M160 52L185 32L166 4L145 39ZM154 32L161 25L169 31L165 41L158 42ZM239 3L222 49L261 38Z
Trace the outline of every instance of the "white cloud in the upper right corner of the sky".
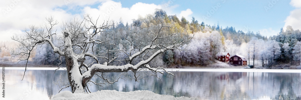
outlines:
M284 21L285 30L287 26L292 26L294 29L301 29L301 1L300 0L292 0L290 5L295 7L293 11L290 11L290 15Z

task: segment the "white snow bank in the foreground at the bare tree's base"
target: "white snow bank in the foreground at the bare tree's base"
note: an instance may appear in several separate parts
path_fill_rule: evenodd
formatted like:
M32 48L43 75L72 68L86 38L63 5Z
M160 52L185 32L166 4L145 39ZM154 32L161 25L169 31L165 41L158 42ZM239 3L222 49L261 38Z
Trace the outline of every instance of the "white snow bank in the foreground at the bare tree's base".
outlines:
M52 100L196 100L197 98L174 97L159 95L148 90L120 92L116 90L101 90L89 94L64 91L54 95Z

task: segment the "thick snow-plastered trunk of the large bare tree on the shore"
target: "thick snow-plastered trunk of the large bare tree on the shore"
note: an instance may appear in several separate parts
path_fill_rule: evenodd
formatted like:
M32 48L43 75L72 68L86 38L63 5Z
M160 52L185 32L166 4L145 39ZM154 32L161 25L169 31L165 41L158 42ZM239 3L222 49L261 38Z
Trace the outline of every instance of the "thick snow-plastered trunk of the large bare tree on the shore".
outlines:
M83 87L85 86L82 84L82 75L79 72L79 65L77 59L75 59L71 53L72 51L65 52L66 68L71 90L72 93L84 93Z

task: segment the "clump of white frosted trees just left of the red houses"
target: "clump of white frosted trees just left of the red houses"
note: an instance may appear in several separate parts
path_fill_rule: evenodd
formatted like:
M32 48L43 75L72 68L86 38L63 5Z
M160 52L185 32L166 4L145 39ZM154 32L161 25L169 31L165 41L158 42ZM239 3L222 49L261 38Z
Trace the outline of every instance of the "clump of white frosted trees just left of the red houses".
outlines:
M176 51L175 55L181 59L182 65L209 65L216 59L216 54L221 51L222 42L218 31L198 32L189 44Z

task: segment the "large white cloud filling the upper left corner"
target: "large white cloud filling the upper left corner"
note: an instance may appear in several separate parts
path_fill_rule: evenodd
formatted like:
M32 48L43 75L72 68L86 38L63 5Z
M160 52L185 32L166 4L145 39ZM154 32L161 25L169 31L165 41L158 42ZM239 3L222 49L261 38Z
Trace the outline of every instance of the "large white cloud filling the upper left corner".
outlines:
M47 24L45 17L53 16L59 21L57 29L60 29L62 21L69 20L74 16L60 7L73 8L76 6L90 5L94 2L107 0L4 0L0 3L0 41L11 40L14 34L22 33L29 25L43 26Z

